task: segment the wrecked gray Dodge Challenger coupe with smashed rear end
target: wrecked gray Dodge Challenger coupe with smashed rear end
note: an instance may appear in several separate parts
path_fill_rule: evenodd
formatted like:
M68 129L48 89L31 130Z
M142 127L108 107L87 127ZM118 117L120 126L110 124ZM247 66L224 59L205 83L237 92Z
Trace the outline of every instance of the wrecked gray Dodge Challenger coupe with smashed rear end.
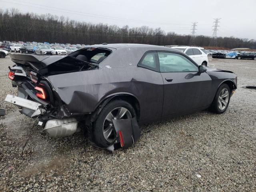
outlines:
M18 96L7 95L7 102L38 120L49 136L84 128L102 148L123 145L117 120L143 124L207 108L221 114L237 88L233 72L198 66L164 46L99 44L67 56L10 57L15 65L8 77Z

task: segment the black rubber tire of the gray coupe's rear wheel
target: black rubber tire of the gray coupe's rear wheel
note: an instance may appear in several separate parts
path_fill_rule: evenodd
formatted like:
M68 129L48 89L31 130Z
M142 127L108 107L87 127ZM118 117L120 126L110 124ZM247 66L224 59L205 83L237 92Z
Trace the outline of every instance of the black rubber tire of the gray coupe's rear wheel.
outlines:
M93 123L92 131L89 134L92 134L90 138L92 139L92 142L94 142L97 146L106 148L110 145L110 143L104 138L103 135L103 124L106 116L109 112L114 110L118 107L124 107L128 109L128 111L131 113L132 118L136 116L136 112L132 105L124 100L114 100L102 109L100 114L98 115L97 120Z

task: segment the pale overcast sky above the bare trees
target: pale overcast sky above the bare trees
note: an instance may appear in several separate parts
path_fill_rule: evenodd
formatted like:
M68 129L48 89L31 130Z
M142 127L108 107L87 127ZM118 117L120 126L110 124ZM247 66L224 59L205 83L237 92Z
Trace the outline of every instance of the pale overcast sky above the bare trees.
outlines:
M0 8L21 12L50 13L70 19L161 27L166 32L212 35L213 18L222 18L218 36L256 39L256 0L0 0Z

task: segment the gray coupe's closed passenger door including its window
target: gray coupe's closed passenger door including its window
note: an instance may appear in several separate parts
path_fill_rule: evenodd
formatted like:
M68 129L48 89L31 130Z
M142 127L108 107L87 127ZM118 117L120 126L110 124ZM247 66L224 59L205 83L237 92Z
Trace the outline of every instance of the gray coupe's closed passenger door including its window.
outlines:
M209 106L212 79L199 73L198 66L183 54L158 52L164 81L162 116L182 114Z

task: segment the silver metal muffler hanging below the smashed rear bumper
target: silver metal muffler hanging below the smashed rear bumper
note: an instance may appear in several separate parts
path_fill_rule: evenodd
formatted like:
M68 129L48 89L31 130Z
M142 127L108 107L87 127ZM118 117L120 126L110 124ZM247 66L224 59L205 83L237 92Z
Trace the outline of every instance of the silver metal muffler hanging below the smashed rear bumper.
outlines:
M75 118L52 119L46 122L43 132L53 138L66 137L77 131L77 124Z

